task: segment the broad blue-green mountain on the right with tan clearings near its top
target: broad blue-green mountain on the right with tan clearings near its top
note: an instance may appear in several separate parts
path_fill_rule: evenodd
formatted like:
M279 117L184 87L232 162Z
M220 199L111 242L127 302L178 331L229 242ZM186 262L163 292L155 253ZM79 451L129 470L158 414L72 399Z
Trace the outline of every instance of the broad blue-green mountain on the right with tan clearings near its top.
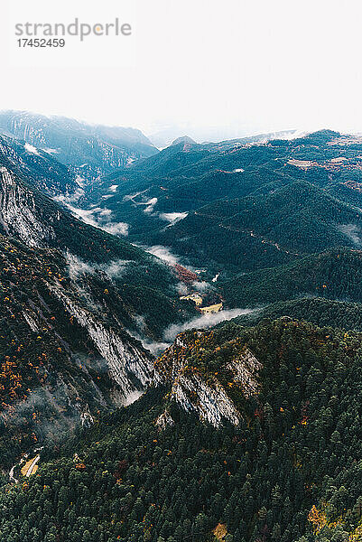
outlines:
M171 247L195 266L210 260L252 268L292 253L357 247L362 166L355 141L325 130L292 140L172 145L105 177L89 203L125 217L130 238ZM257 253L255 263L241 247Z

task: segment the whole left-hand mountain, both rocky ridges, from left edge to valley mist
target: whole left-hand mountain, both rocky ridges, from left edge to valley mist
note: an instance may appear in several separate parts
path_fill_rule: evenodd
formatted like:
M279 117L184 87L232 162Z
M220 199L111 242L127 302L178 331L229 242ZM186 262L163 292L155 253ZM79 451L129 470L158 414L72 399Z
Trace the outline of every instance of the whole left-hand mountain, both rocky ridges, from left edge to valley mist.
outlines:
M74 218L33 186L22 155L0 161L4 464L139 397L153 380L140 340L198 313L174 267Z

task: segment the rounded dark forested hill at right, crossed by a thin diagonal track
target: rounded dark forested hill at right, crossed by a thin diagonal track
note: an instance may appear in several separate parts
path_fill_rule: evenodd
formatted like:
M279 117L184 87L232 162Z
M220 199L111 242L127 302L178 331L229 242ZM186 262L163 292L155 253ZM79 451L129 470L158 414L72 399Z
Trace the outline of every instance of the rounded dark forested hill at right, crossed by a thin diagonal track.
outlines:
M362 213L318 187L292 182L270 194L220 200L153 235L154 244L221 268L251 270L325 248L361 246Z

